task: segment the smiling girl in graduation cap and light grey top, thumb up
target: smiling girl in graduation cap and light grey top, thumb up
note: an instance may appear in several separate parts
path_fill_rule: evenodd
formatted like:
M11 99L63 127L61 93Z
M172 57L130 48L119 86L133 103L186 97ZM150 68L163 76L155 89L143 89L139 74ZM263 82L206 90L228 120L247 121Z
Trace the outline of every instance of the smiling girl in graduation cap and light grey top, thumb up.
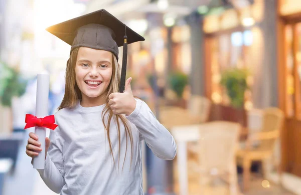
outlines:
M143 194L141 141L160 158L176 155L172 135L133 97L131 78L118 92L122 30L124 25L104 10L48 29L72 45L65 95L55 113L58 127L46 138L45 169L37 169L57 193ZM129 28L126 33L129 42L141 40ZM42 149L38 137L29 136L26 153L35 157Z

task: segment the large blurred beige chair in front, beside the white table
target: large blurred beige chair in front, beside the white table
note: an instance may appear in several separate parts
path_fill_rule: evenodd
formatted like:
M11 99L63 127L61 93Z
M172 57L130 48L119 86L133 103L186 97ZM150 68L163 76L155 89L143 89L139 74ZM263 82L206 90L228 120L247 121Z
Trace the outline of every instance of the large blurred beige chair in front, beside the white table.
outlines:
M198 160L190 168L199 173L201 186L205 187L212 178L220 177L229 183L230 194L240 194L235 162L240 130L240 124L234 122L200 124Z

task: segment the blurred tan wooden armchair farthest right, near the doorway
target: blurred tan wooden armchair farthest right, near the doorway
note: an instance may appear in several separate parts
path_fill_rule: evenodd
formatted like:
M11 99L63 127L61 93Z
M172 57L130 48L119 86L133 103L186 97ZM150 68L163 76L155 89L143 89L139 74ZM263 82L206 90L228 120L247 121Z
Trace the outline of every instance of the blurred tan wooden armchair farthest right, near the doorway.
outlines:
M279 138L284 114L279 108L266 108L262 112L261 129L251 131L244 145L237 151L237 162L243 167L243 188L247 190L252 161L261 161L263 176L266 162L273 157L274 146ZM254 144L255 143L255 144Z

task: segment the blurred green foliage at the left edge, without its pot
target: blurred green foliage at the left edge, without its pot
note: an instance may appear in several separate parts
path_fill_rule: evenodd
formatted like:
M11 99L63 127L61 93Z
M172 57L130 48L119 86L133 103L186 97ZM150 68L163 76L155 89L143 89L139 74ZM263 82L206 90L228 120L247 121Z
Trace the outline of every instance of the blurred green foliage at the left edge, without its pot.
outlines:
M25 93L27 81L14 68L0 62L0 99L4 106L12 106L12 98Z

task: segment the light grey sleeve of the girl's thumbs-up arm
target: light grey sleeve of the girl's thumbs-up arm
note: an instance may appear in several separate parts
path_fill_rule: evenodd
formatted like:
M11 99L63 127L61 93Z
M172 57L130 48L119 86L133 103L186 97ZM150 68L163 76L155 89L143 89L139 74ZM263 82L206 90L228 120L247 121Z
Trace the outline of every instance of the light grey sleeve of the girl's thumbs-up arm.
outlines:
M136 99L135 110L128 116L125 116L133 123L144 139L147 146L159 158L172 160L177 153L177 145L171 133L156 119L154 113L148 105Z

